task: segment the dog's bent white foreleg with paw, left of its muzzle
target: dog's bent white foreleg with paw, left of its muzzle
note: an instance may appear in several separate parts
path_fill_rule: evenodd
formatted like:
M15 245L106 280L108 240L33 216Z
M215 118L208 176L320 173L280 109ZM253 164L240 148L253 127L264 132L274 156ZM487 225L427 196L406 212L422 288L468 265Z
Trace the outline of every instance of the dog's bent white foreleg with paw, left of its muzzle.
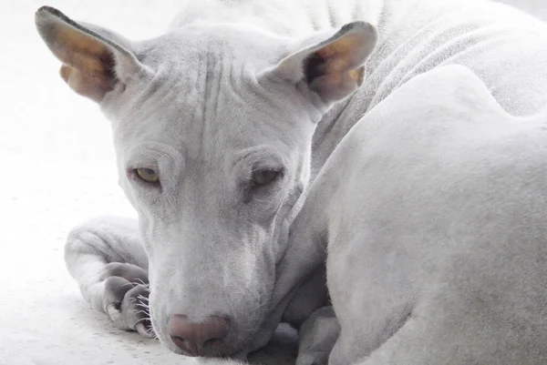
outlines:
M137 220L103 217L73 228L65 261L82 295L122 330L153 336L148 315L148 259Z

